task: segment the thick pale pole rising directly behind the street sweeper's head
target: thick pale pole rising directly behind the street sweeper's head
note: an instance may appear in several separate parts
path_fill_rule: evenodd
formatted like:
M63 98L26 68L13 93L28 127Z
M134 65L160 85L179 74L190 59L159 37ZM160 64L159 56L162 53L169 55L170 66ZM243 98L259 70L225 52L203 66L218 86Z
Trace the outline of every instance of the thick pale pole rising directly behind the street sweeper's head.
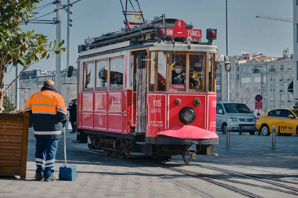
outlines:
M61 0L56 4L57 8L57 24L56 24L56 49L61 42ZM56 90L61 94L61 56L56 54Z

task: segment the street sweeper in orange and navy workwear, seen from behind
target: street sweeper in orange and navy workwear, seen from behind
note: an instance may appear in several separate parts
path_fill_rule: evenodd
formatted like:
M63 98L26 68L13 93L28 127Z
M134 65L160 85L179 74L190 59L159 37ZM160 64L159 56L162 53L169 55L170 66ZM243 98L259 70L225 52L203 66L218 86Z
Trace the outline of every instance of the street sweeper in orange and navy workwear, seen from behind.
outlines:
M25 111L32 114L34 136L36 138L35 180L55 181L54 166L61 137L62 124L66 124L68 114L63 97L57 93L52 80L46 80L41 91L32 94L25 104Z

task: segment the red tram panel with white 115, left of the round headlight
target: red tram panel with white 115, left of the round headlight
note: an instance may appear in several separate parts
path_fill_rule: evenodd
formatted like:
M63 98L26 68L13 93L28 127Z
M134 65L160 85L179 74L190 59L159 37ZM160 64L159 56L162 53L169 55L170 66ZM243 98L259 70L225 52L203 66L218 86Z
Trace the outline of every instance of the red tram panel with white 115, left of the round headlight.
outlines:
M147 137L154 137L155 133L164 131L166 127L166 95L148 96Z

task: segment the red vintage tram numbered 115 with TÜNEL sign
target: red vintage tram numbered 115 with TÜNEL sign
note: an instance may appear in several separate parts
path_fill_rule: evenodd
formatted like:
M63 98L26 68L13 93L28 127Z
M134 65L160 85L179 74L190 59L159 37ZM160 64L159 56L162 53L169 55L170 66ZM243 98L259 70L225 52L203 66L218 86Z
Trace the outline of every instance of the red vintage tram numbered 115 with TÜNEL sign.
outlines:
M127 158L213 154L216 33L203 43L202 30L163 15L79 46L77 131L88 147Z

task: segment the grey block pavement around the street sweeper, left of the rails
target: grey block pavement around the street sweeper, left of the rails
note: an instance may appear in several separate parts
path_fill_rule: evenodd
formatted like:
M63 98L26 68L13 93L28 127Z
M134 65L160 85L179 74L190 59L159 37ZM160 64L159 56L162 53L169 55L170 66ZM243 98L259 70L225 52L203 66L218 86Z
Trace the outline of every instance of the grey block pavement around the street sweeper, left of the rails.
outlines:
M70 130L69 130L70 131ZM134 166L122 166L109 160L94 159L69 149L68 165L75 165L78 178L74 181L35 181L35 139L30 130L27 159L27 178L0 177L0 198L198 198L198 194L162 179ZM68 141L75 134L67 132ZM60 145L63 145L63 139ZM81 145L79 145L81 146ZM103 156L108 157L108 156ZM110 160L112 157L108 157ZM58 148L55 173L58 179L59 167L64 163L63 147Z

